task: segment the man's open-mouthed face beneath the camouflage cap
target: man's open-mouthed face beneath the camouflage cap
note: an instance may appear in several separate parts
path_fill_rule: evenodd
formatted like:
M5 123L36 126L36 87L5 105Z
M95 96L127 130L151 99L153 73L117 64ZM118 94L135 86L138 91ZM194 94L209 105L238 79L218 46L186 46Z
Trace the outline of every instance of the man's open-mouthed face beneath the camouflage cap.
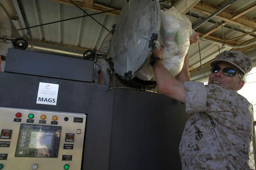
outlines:
M225 87L225 89L231 89L234 91L238 91L242 88L242 87L240 88L240 84L239 84L240 81L242 80L239 77L237 73L237 68L235 66L224 61L217 63L216 66L220 66L221 70L218 71L217 73L210 74L208 84L222 84ZM226 68L226 67L233 68L236 71L236 75L234 77L224 75L223 68Z

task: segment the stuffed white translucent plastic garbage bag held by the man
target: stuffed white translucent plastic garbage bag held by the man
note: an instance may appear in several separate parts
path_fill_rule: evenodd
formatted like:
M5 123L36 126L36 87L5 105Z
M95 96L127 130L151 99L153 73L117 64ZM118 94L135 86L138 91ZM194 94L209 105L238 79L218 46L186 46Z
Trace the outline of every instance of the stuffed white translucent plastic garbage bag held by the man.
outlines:
M184 63L189 48L189 37L195 34L191 22L185 15L182 16L174 8L161 10L160 43L164 47L163 65L177 76ZM154 72L149 61L135 75L141 80L154 81Z

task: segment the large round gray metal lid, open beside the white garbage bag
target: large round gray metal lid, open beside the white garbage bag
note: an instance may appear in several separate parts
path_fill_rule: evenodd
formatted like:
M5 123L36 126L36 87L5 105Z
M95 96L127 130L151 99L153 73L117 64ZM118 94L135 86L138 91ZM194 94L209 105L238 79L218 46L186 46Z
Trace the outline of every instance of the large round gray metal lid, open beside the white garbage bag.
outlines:
M129 80L149 59L160 29L158 1L130 0L119 14L111 41L115 73Z

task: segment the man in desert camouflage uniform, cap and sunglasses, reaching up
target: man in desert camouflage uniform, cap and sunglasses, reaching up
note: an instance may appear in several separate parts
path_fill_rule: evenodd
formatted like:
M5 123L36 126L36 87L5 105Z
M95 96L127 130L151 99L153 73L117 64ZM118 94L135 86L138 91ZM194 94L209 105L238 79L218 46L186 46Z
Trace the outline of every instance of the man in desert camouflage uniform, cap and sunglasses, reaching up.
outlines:
M154 51L155 57L162 54L163 49ZM179 146L182 169L251 169L253 112L236 91L243 87L252 61L237 51L224 51L215 59L206 86L178 81L160 59L151 62L160 91L186 103L191 114Z

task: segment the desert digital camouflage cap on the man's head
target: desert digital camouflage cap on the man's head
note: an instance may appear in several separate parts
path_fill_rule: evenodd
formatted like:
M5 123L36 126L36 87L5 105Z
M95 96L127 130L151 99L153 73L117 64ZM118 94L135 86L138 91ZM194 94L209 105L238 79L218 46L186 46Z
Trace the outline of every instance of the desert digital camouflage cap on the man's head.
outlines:
M250 72L252 69L252 60L240 51L230 50L220 53L215 57L215 61L211 63L211 66L214 66L218 61L231 63L240 69L244 74Z

